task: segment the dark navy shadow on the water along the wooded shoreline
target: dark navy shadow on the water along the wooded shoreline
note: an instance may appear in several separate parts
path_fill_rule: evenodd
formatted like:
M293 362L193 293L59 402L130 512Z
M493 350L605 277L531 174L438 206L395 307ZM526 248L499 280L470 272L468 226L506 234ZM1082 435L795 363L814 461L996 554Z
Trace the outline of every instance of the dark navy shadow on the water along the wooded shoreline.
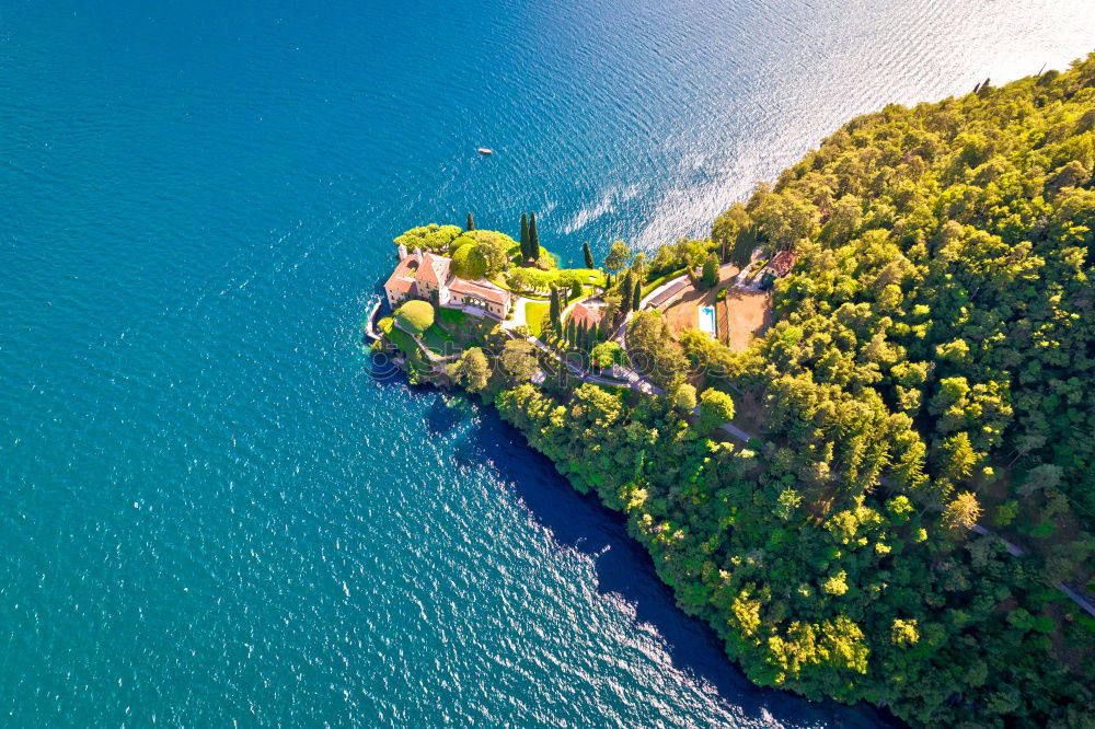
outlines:
M406 386L402 378L385 378L385 382ZM867 705L809 702L750 683L727 658L714 630L677 606L671 589L655 572L649 554L627 534L621 514L595 496L575 491L551 460L530 448L493 407L472 405L463 395L412 390L433 400L426 426L434 435L456 437L452 444L459 462L497 466L515 495L556 541L593 559L598 592L616 593L633 605L636 620L654 626L662 637L673 664L713 686L723 699L740 708L744 718L762 724L775 719L793 727L903 726Z

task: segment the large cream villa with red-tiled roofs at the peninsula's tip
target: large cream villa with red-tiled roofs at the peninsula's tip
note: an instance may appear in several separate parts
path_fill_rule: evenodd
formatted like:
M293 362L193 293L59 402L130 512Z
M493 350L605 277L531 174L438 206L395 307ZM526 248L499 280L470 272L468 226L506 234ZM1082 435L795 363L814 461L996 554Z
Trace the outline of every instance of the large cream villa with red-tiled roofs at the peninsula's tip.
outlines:
M407 299L425 299L476 316L489 314L495 319L506 317L511 303L509 291L484 279L469 281L453 276L451 265L450 258L429 251L415 251L408 255L401 245L400 263L384 284L388 304L394 311Z

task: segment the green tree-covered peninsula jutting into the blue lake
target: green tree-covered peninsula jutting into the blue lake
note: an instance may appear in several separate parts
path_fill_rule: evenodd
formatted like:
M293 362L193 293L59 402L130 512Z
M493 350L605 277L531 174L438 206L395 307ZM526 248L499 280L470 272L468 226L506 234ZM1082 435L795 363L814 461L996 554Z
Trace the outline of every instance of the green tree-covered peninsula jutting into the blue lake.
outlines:
M857 117L649 256L408 231L504 315L403 304L376 347L622 512L753 682L911 726L1093 727L1093 171L1095 54ZM677 279L771 285L769 320L741 346L675 331Z

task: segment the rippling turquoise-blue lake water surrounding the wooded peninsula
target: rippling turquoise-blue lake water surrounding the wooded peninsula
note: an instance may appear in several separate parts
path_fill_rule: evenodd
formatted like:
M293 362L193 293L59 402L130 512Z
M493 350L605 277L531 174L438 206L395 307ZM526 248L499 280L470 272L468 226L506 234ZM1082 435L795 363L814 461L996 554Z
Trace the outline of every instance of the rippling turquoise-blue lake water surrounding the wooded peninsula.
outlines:
M1085 54L1090 4L311 4L0 2L0 724L879 721L748 684L362 310L468 210L700 234L853 114Z

